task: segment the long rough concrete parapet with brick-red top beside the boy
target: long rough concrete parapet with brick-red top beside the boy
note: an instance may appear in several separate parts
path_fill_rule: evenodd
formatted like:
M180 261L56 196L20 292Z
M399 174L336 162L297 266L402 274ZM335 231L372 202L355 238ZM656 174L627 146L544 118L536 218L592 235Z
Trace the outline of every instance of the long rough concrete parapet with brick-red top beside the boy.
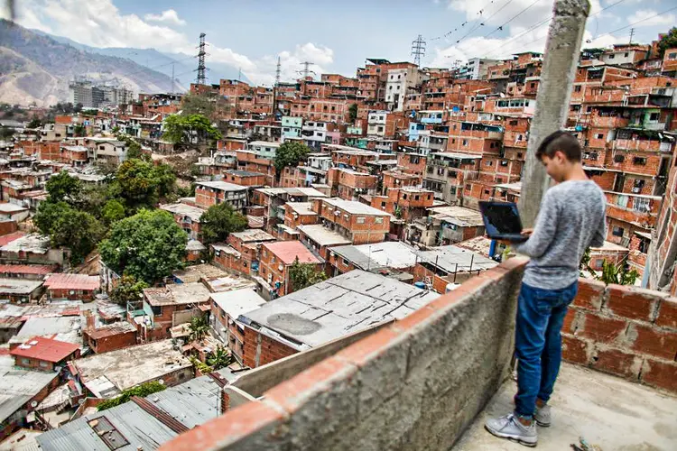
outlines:
M508 374L524 262L485 272L161 449L449 449Z

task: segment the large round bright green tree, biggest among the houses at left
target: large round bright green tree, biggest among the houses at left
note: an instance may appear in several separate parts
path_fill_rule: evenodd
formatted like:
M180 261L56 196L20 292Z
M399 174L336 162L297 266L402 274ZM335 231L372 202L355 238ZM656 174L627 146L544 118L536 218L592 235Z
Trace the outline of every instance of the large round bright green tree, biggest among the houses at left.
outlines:
M143 209L113 224L99 251L113 271L153 285L185 266L187 243L171 214Z

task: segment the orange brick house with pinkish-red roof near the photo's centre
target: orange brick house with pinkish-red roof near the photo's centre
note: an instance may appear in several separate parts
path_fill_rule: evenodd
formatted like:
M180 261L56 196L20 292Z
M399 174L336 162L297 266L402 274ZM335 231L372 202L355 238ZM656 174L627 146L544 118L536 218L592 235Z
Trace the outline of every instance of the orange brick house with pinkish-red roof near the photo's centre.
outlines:
M264 243L261 249L259 276L267 283L267 290L276 296L284 296L293 291L289 281L289 267L293 262L309 263L322 271L321 262L300 241L280 241Z

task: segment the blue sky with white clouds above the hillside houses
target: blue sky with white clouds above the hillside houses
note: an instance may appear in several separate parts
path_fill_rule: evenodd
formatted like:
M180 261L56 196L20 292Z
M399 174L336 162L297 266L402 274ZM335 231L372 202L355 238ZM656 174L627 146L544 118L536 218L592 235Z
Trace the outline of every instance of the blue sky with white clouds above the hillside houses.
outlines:
M93 47L197 53L207 34L207 67L219 61L257 84L316 74L355 76L367 58L413 60L426 41L424 67L469 58L543 51L552 0L15 0L17 22ZM3 11L2 14L6 12ZM675 0L590 0L584 47L648 43L677 24ZM197 62L196 62L197 65ZM153 67L153 61L149 61ZM217 83L218 80L209 80Z

